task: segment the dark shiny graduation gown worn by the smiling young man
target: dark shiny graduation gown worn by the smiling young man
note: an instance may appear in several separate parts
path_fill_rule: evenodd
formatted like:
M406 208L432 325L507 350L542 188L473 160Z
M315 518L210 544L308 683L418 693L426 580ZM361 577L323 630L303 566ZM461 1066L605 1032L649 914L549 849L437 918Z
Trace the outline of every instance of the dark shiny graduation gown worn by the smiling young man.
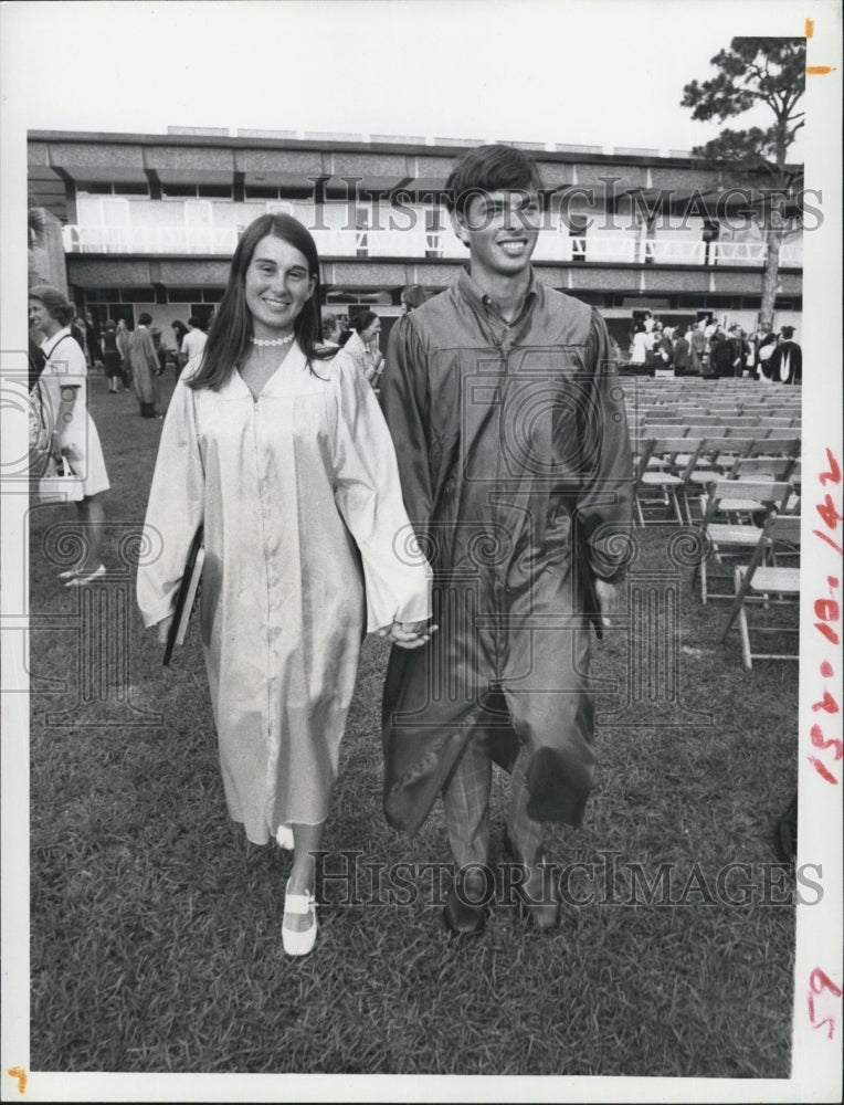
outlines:
M508 769L526 745L529 815L578 824L594 772L594 576L618 578L610 535L632 507L606 328L535 278L507 325L464 272L408 316L381 402L440 627L390 656L387 819L415 832L476 738Z

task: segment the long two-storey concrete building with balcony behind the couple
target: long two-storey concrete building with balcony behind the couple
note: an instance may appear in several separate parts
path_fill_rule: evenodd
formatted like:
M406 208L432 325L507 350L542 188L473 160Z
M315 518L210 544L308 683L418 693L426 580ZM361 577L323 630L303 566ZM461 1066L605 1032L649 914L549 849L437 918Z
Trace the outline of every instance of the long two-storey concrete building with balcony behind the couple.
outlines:
M31 131L30 206L61 224L81 308L134 326L208 317L242 229L283 210L314 234L326 305L373 307L387 332L400 292L453 282L467 252L437 196L479 141L192 129L167 135ZM515 144L519 145L519 144ZM598 306L622 349L634 312L756 325L766 244L753 197L675 150L529 146L547 189L541 278ZM802 231L780 251L777 325L800 326Z

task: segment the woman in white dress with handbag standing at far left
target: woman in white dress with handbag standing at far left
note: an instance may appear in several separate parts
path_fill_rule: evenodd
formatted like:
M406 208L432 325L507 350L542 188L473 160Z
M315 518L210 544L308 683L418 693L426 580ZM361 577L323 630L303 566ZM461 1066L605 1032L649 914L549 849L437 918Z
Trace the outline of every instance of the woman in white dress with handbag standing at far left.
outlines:
M29 299L30 323L44 335L41 349L45 365L36 389L44 424L51 428L50 453L56 466L63 460L70 464L83 493L76 503L82 555L59 578L65 587L84 587L106 573L101 559L105 527L102 496L109 487L108 473L87 408L85 354L70 328L75 308L48 284L32 287Z

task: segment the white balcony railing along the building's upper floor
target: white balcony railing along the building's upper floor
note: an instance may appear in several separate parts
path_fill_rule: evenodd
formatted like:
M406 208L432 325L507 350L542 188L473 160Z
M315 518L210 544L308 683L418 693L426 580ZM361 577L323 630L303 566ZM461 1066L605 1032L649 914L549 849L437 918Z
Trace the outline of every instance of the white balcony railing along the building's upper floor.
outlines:
M66 253L159 253L226 254L238 244L236 227L131 227L102 228L68 225L63 228ZM324 257L401 257L413 261L444 257L463 261L466 248L451 230L314 230ZM654 265L745 265L764 264L764 242L710 242L689 239L643 239L631 234L605 233L570 235L565 231L539 233L535 257L551 262L592 262L604 264ZM802 242L780 246L780 264L801 267Z

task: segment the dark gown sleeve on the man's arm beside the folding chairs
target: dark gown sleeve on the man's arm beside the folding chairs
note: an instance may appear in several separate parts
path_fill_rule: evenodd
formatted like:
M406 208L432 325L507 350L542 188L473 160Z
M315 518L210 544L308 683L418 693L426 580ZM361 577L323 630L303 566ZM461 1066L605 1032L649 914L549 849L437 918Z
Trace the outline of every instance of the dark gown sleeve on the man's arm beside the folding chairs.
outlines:
M599 579L615 582L623 575L625 541L633 517L633 454L624 413L624 391L610 349L606 326L592 312L585 348L591 389L581 412L582 455L588 457L578 496L578 522L589 566Z

